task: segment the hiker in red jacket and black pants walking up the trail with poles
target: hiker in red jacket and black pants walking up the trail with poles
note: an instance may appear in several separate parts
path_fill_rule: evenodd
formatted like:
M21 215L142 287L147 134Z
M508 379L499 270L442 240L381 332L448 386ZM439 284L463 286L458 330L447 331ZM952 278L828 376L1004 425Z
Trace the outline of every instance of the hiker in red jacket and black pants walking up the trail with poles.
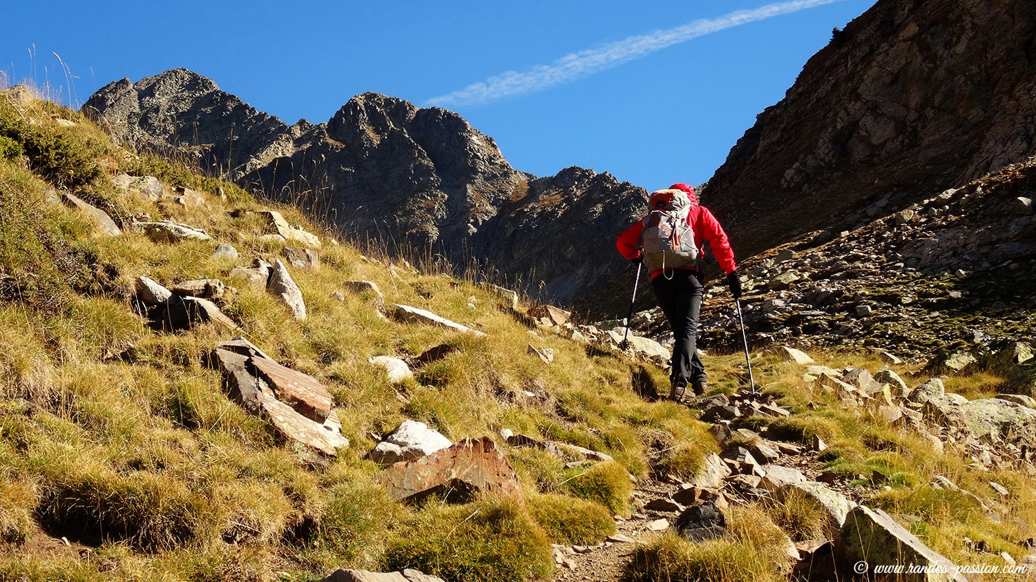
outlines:
M686 199L682 200L681 196ZM687 392L688 384L699 396L707 388L708 378L696 346L698 314L704 295L703 262L700 260L702 243L709 242L719 266L726 271L726 281L735 298L741 297L741 280L738 278L733 251L730 250L723 227L708 208L698 204L697 194L692 186L677 183L667 190L655 192L650 205L653 206L651 210L668 209L670 214L683 216L689 225L689 229L682 228L688 231L688 235L693 233L693 240L688 240L693 248L693 251L687 253L690 260L673 258L671 254L660 260L660 253L652 244L648 245L651 249L645 256L644 234L645 231L652 231L654 225L649 225L649 222L656 214L651 211L648 216L633 223L618 235L615 246L627 259L634 263L644 261L644 266L652 269L652 287L655 288L658 304L662 308L673 336L669 399L680 402ZM679 230L677 233L679 234ZM653 234L657 236L657 229ZM666 260L669 262L666 263Z

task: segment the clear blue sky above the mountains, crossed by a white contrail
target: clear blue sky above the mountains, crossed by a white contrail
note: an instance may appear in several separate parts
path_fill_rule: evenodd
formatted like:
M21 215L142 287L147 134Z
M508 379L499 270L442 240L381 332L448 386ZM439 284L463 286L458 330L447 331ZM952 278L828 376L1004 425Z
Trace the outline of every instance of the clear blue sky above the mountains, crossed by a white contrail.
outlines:
M288 123L377 91L460 113L518 170L581 166L654 190L709 179L832 28L872 4L15 2L0 82L49 83L75 105L186 67Z

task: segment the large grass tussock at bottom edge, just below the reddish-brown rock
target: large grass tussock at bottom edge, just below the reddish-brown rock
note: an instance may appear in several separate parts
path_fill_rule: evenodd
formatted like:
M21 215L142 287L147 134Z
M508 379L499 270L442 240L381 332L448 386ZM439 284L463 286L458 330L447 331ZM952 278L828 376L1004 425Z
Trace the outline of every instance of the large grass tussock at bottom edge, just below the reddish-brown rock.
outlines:
M412 568L456 582L515 582L553 570L550 542L513 499L435 505L396 531L386 570Z

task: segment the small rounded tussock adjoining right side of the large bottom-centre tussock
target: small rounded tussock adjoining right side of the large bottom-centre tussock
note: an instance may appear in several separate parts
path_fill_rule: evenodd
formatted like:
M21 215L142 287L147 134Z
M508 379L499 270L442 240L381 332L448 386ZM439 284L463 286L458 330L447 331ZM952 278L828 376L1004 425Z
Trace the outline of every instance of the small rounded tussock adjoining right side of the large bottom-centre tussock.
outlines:
M526 503L555 544L597 544L615 532L615 521L600 503L557 494L530 495Z

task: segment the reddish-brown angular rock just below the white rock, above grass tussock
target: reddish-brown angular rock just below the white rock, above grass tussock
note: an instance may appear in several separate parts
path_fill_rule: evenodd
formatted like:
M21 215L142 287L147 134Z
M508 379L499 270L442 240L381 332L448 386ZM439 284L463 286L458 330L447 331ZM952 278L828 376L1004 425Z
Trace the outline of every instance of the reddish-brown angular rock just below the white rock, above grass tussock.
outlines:
M426 457L396 463L374 478L398 500L420 502L436 493L461 502L479 494L522 498L518 475L488 438L465 439Z

